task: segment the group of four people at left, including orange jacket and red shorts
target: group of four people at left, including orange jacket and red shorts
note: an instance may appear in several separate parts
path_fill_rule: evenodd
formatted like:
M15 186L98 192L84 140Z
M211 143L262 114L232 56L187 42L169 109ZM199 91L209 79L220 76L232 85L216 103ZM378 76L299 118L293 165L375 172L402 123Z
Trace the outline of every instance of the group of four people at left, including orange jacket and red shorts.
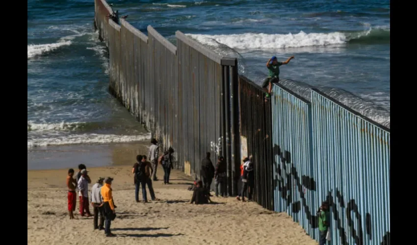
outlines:
M94 212L94 229L104 230L105 236L113 237L110 232L111 221L116 218L116 205L114 205L111 177L99 177L91 188L90 199L88 198L88 184L91 184L90 176L84 164L78 165L78 173L74 178L74 169L68 170L68 212L70 220L74 219L74 211L79 198L79 214L82 217L90 217L90 203ZM78 190L78 194L77 191ZM100 219L100 222L99 222Z

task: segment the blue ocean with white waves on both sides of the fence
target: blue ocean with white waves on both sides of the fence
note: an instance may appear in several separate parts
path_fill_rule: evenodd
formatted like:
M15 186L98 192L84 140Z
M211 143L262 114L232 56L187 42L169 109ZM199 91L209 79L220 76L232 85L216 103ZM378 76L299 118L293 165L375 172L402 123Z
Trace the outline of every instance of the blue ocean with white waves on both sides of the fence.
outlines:
M173 43L180 30L207 46L215 40L230 47L251 79L267 73L272 55L294 55L281 78L348 91L390 110L388 0L108 2L145 34L152 25ZM36 154L39 163L66 147L150 139L107 91L108 53L93 18L93 0L27 1L28 169Z

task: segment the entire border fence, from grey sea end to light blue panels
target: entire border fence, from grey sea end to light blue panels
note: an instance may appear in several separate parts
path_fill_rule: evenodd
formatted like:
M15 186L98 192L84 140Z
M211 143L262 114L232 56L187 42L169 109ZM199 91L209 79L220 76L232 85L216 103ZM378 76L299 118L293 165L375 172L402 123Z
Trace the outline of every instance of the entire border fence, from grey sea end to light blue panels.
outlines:
M206 152L225 157L228 194L251 156L254 199L286 212L318 239L316 211L329 201L335 245L390 244L390 129L311 89L263 90L223 57L184 35L177 46L148 36L95 0L95 26L109 50L109 91L158 140L177 169L200 177ZM214 183L213 183L214 184Z

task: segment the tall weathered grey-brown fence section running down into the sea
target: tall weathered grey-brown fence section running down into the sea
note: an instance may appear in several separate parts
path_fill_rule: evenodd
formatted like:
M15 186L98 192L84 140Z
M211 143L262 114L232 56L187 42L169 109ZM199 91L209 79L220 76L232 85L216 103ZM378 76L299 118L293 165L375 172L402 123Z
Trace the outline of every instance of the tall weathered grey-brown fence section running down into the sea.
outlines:
M109 91L153 134L162 150L174 148L176 167L188 175L199 178L206 152L211 152L215 164L225 149L229 194L236 193L232 179L240 159L235 153L238 98L233 98L237 60L222 57L179 31L177 50L152 26L147 37L124 19L117 20L120 25L109 19L112 9L104 0L95 0L95 8L96 26L109 49ZM224 120L223 111L228 116Z

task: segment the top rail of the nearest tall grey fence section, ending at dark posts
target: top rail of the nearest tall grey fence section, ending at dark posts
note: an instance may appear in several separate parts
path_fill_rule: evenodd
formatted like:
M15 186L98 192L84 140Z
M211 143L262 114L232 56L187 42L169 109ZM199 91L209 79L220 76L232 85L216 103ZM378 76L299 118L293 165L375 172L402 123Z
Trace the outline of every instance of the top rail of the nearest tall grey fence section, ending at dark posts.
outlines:
M197 50L198 52L206 55L209 59L216 62L219 65L223 66L235 66L236 58L232 57L222 57L219 54L211 51L210 49L206 48L204 45L198 43L197 41L193 40L190 37L185 36L184 33L181 31L176 31L175 36L180 39L183 43L190 46L191 48Z

